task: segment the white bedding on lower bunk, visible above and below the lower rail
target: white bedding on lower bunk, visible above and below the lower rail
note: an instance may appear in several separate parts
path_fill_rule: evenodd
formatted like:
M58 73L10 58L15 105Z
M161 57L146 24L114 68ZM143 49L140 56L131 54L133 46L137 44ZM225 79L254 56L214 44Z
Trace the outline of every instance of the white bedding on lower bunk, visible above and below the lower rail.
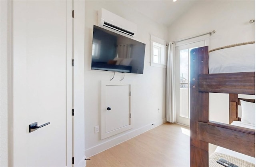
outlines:
M246 128L250 128L250 129L255 129L255 125L252 125L252 124L249 124L249 123L242 123L241 121L233 121L231 123L231 125L236 125L236 126L240 126L240 127L246 127ZM248 155L244 155L244 154L238 153L236 151L225 149L223 147L219 147L218 146L214 152L219 152L219 153L231 155L233 157L237 157L239 159L243 159L245 161L248 161L250 163L254 163L255 164L255 158L254 157L250 157Z

